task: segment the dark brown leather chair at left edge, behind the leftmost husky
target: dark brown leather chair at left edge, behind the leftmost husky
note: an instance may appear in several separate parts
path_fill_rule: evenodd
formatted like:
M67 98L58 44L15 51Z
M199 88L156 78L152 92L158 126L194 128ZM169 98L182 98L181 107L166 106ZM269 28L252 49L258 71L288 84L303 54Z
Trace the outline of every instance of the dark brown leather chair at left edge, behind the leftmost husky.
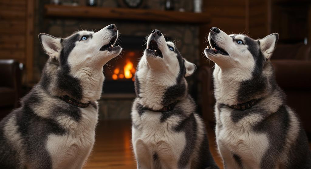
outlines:
M16 60L0 60L0 118L19 106L22 68Z

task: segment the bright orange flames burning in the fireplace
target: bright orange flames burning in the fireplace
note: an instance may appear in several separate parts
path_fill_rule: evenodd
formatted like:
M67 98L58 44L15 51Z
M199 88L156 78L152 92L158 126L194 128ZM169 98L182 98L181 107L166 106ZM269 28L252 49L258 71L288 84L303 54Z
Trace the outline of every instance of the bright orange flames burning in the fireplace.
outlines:
M135 73L135 68L133 68L133 63L130 60L126 61L126 64L123 67L123 71L120 68L115 68L114 69L114 74L112 75L112 79L117 80L117 79L132 79L132 81L135 80L133 78L133 74Z

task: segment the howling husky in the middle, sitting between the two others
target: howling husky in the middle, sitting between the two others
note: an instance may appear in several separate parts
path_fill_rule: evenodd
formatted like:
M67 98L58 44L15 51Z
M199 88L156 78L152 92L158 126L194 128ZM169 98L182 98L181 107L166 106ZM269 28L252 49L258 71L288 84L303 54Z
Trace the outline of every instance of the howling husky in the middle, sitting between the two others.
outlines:
M187 92L196 70L172 42L153 30L135 75L132 145L137 168L218 168L204 123Z

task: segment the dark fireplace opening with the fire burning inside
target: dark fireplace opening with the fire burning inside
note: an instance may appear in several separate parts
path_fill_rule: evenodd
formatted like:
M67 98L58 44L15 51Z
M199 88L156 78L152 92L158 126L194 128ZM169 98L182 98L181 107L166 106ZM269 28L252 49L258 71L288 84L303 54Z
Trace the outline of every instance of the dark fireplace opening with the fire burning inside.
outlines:
M167 41L170 38L166 38ZM104 93L134 93L134 81L137 64L146 49L146 37L122 36L120 45L123 51L120 56L110 60L104 66Z

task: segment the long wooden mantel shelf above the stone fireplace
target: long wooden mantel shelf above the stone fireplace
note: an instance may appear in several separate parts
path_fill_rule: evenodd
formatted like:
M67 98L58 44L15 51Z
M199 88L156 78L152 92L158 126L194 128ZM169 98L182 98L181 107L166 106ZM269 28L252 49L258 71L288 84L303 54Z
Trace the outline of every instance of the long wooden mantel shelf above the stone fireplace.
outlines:
M103 18L188 24L207 24L210 22L208 13L62 5L45 5L44 8L46 16L54 17Z

